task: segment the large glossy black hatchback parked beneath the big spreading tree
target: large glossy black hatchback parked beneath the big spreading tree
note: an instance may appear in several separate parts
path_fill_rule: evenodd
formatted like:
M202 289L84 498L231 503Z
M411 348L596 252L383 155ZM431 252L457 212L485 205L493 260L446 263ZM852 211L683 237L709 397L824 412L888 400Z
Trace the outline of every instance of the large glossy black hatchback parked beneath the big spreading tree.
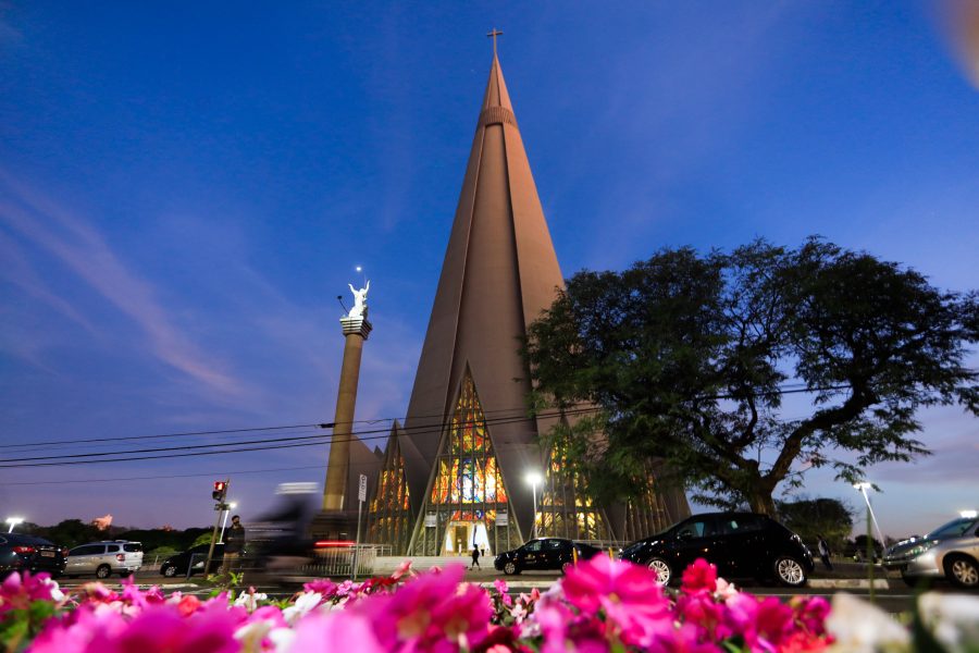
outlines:
M669 584L687 565L704 558L722 578L774 578L789 587L806 584L813 554L788 528L754 513L694 515L669 530L630 544L622 559L646 565Z

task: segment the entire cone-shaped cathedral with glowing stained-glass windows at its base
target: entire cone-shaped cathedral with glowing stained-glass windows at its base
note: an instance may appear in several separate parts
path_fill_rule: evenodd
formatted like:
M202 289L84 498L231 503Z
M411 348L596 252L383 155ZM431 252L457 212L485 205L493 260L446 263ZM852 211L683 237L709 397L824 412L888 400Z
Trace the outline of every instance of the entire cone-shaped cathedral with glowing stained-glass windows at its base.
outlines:
M562 287L494 52L405 423L383 452L359 441L350 452L348 504L354 479L370 477L364 542L398 555L495 554L535 535L631 541L690 514L652 469L641 501L596 506L561 452L542 449L561 418L528 417L519 347Z

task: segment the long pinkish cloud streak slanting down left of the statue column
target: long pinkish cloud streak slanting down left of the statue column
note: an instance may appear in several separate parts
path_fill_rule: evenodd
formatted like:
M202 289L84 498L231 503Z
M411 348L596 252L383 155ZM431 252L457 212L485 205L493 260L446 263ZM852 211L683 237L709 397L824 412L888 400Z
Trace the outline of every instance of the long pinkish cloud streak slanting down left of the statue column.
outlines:
M158 300L153 286L132 271L90 224L5 171L0 171L0 182L15 198L15 201L0 202L0 219L128 316L146 334L150 350L160 360L212 392L224 396L246 393L220 361L177 329Z

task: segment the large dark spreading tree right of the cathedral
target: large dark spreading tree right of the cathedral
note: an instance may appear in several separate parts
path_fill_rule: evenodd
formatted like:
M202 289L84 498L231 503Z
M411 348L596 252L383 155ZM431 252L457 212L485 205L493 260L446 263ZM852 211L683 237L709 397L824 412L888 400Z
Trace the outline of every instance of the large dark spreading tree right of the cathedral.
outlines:
M597 409L545 442L569 452L596 498L628 498L666 460L695 500L773 515L776 489L801 486L808 468L852 482L927 455L913 438L920 408L979 411L964 364L977 333L975 293L818 238L792 250L758 241L579 272L523 354L536 408Z

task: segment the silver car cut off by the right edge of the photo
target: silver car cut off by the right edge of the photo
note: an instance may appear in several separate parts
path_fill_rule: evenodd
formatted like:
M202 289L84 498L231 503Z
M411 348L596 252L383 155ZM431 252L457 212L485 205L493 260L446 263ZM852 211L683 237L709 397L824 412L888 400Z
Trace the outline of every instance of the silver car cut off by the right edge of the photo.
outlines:
M979 588L979 517L961 517L921 538L891 546L883 558L909 586L946 578L961 588Z

